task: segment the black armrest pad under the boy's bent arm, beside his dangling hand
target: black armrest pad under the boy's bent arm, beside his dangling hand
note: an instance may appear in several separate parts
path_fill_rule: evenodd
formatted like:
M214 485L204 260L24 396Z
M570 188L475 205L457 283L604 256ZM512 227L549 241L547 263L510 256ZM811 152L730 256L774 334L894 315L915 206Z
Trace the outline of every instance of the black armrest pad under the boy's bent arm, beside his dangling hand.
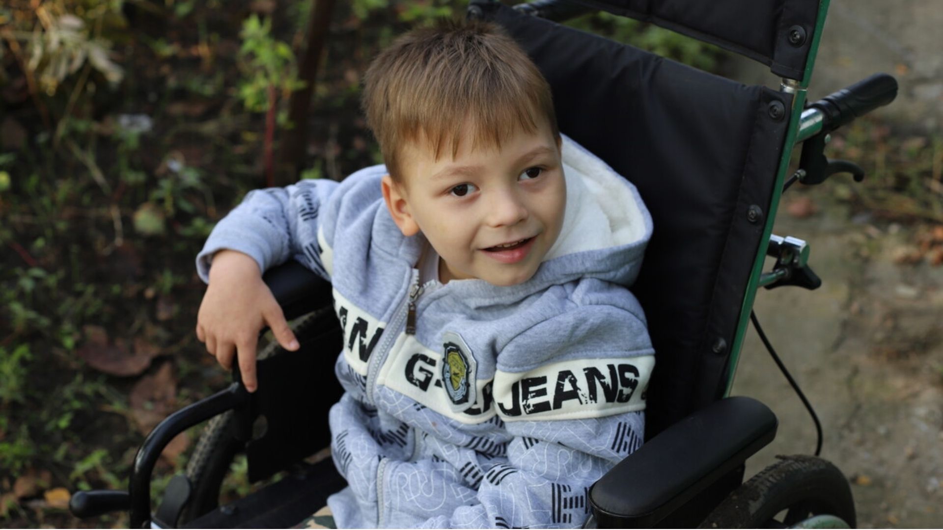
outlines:
M301 263L290 259L262 275L285 319L298 318L330 300L331 284Z

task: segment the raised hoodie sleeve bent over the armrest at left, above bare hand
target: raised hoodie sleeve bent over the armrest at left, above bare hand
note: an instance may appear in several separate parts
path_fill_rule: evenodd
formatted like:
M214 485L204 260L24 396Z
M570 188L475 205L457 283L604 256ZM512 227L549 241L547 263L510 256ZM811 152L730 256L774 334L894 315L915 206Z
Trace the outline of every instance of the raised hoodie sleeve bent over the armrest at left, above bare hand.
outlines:
M253 190L213 228L196 257L196 270L209 283L213 254L237 250L253 257L260 271L295 257L330 280L323 259L320 224L329 199L338 189L333 180L302 180L285 188Z

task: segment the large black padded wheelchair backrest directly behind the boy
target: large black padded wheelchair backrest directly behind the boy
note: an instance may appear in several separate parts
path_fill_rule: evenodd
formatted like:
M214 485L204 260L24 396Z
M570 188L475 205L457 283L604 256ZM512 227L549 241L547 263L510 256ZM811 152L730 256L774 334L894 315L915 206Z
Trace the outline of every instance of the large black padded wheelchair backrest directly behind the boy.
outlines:
M651 438L726 387L790 98L512 8L482 8L550 82L560 130L629 178L652 212L633 288L656 352Z

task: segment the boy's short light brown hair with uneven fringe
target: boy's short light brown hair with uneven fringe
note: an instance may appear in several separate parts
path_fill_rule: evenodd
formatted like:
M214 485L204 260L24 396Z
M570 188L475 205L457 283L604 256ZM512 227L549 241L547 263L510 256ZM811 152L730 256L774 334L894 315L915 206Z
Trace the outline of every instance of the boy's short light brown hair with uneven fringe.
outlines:
M500 26L478 21L443 20L393 41L367 70L363 109L398 182L405 142L428 142L438 160L446 145L455 157L463 132L472 150L498 147L518 127L537 132L541 119L559 139L537 66Z

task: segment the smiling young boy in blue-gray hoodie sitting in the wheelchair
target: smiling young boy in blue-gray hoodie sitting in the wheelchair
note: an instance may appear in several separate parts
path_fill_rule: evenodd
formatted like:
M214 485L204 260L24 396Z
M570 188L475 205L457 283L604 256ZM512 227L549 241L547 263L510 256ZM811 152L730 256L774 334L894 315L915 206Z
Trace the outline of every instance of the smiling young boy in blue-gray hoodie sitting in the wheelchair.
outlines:
M256 190L197 257L197 334L255 389L261 272L328 278L344 328L330 414L339 527L572 527L642 440L653 349L635 188L556 128L550 89L493 25L414 30L364 108L386 166ZM210 268L212 265L212 268Z

